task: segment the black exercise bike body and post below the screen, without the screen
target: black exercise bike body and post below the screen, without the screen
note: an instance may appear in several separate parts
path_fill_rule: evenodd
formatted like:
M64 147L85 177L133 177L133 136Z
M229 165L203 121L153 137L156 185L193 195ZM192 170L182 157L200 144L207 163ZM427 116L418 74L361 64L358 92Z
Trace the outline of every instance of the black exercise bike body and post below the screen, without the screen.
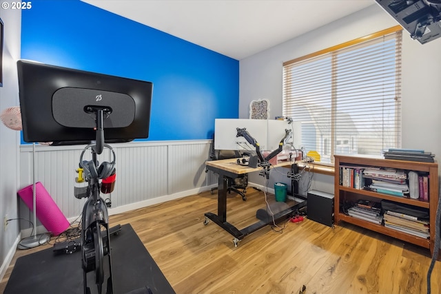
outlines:
M88 198L83 207L81 218L81 253L83 266L84 293L113 293L112 257L110 247L110 228L107 204L101 198L100 180L115 173L115 152L110 145L104 143L103 114L109 109L91 107L90 112L96 115L96 142L87 145L81 152L79 165L83 169L88 186L85 193L79 195ZM110 149L112 162L102 162L99 165L97 155L103 149ZM85 151L90 149L92 160L83 160ZM82 198L78 197L77 198ZM94 281L90 283L90 273L94 272ZM105 278L107 277L107 281ZM92 287L90 284L96 286ZM105 292L103 292L105 290Z

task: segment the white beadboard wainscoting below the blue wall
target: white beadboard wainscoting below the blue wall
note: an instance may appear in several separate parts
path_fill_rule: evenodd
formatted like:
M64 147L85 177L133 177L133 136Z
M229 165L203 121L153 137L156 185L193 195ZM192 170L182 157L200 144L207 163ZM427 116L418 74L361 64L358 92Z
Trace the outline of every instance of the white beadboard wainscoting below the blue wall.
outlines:
M103 198L112 200L110 211L145 207L149 204L189 196L209 189L216 175L205 172L212 140L155 141L112 144L116 154L115 189ZM84 145L36 145L36 180L50 193L66 218L81 214L85 199L74 198L74 178ZM83 159L90 160L90 151ZM110 162L105 149L99 162ZM21 145L20 187L32 185L32 145ZM31 218L20 201L20 216ZM22 228L24 223L22 222Z

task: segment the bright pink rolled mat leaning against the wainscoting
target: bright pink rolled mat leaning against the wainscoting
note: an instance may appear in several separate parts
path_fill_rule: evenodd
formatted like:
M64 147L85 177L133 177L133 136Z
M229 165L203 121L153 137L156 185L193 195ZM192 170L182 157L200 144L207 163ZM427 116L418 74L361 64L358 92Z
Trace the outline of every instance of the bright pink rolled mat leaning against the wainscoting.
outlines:
M33 211L34 207L33 188L33 185L29 185L17 192L31 211ZM59 235L70 226L68 220L57 206L57 203L54 202L41 182L35 183L35 206L37 218L39 218L41 224L43 224L52 235Z

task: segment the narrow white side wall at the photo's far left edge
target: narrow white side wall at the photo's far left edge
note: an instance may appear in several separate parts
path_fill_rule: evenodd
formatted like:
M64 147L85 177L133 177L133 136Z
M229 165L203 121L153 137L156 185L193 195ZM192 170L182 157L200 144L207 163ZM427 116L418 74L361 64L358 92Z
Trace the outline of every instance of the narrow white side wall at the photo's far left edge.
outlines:
M16 62L20 57L21 12L0 9L3 32L3 87L0 87L0 111L19 105ZM15 252L19 233L18 222L10 221L6 231L3 219L17 218L17 187L19 182L20 133L0 123L0 280Z

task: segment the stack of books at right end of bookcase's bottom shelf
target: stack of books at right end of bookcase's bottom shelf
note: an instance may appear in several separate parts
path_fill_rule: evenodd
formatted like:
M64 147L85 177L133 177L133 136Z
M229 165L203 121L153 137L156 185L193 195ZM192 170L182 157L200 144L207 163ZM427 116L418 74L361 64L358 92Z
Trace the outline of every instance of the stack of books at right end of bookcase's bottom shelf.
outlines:
M429 238L429 221L396 211L384 212L384 227L421 238Z

